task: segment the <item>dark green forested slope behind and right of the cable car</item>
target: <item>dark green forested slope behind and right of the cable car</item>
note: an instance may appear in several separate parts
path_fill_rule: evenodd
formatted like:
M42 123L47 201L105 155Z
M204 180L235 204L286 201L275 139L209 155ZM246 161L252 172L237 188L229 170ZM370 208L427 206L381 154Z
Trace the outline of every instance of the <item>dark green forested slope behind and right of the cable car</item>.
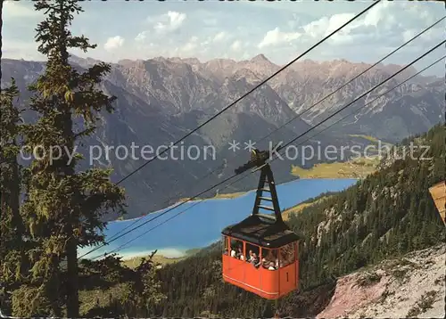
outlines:
M333 294L334 276L444 241L444 225L428 188L444 180L445 139L439 125L404 141L397 154L384 159L380 171L289 219L303 237L302 291L279 302L281 315L317 315ZM425 154L420 145L428 146ZM419 159L421 155L430 159ZM153 315L273 314L274 303L223 283L220 272L219 244L163 267L159 276L167 300L152 308Z

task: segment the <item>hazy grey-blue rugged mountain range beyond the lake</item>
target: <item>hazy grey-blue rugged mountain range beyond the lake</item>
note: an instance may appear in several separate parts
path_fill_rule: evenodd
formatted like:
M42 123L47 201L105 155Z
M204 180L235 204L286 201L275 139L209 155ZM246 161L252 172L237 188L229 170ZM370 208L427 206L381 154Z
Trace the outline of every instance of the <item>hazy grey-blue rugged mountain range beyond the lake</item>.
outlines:
M72 56L71 62L76 68L83 70L98 61ZM42 74L45 63L2 59L1 66L4 78L2 86L7 86L9 79L15 78L21 91L18 103L26 105L30 97L27 86ZM219 183L234 174L234 169L249 159L248 151L244 150L244 142L259 141L263 136L271 134L255 146L268 148L269 145L279 142L286 143L401 68L397 65L379 64L326 101L303 113L326 94L335 91L368 67L366 63L343 60L305 60L294 63L234 107L223 112L217 119L187 137L184 146L187 149L189 145L196 145L201 152L199 159L153 160L147 167L125 180L122 186L128 194L128 217L162 209L180 198L193 196L212 184ZM194 127L210 119L280 68L262 54L249 61L216 59L201 62L197 59L159 57L146 61L124 60L112 63L111 72L104 78L102 86L106 94L118 98L115 102L116 110L113 114L101 114L95 135L83 141L83 145L79 145L79 150L87 156L80 168L90 165L88 158L93 155L91 147L97 145L95 154L98 155L97 152L101 149L102 157L94 160L92 164L112 166L112 178L118 181L145 163L140 153L144 145L151 145L153 149L159 145L169 146L169 143L188 134ZM408 68L399 77L380 86L338 116L360 107L364 102L374 99L376 94L384 93L416 72L417 70ZM277 127L301 113L300 118L277 130ZM23 119L26 122L33 121L36 115L26 111ZM333 123L336 119L339 118L334 117L326 124ZM322 127L315 129L310 136L302 136L296 143L311 144L315 147L354 144L365 146L369 143L368 139L352 135L372 135L390 143L397 143L409 135L425 132L442 119L442 79L417 76L317 138L305 142ZM241 150L229 150L228 143L232 141L240 143ZM130 150L132 143L139 147L134 159L118 159L115 150L112 150L113 153L109 157L105 156L106 146L116 148L124 145ZM209 148L209 145L212 145L213 149ZM203 155L205 151L207 158ZM194 156L193 149L191 153L191 156ZM117 155L122 154L119 152ZM178 155L179 151L175 156ZM297 159L286 160L285 163L274 162L272 167L277 181L283 183L293 178L291 164L309 168L320 161L330 161L312 158L303 162L301 159L299 154ZM217 171L211 174L214 169ZM202 180L203 176L207 176L206 179ZM255 188L256 178L257 176L250 176L227 189L223 189L223 184L201 197L212 196L215 192L237 192ZM111 214L108 218L115 217Z

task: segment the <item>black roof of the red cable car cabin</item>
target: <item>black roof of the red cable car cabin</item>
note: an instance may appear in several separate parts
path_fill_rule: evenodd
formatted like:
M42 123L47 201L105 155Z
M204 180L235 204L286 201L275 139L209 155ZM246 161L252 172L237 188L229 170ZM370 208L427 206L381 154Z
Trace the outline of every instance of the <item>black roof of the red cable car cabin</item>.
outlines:
M284 222L277 222L274 217L255 214L245 218L238 224L227 226L222 234L241 241L265 248L279 248L290 242L300 240Z

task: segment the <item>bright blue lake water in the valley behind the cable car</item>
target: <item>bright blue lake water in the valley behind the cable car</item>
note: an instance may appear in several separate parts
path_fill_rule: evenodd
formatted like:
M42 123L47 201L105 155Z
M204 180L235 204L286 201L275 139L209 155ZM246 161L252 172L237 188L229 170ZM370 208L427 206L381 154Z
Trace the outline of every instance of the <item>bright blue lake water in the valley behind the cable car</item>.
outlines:
M356 179L298 179L277 185L280 208L290 208L301 201L316 197L322 192L342 191L356 182ZM136 237L138 237L136 240L120 249L118 252L120 256L123 258L145 256L154 249L158 249L159 255L170 258L180 257L185 254L187 249L206 247L212 242L218 241L223 228L235 224L251 214L254 198L255 192L252 191L235 199L186 202L120 239L112 241L109 245L95 250L85 258L94 258L120 248L121 245ZM135 223L136 220L137 223L128 229L141 225L168 209L162 209L146 217L111 222L104 231L106 239L112 238L115 233ZM182 211L184 213L178 215ZM174 217L175 215L178 216ZM79 249L79 256L90 249Z

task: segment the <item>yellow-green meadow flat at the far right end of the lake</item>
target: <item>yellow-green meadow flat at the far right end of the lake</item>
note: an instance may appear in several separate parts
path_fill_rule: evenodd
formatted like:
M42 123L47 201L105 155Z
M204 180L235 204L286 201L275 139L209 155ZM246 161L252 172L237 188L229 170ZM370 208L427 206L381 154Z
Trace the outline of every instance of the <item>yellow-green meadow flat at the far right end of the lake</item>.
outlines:
M358 158L345 162L316 164L310 169L292 166L291 174L300 178L363 178L376 171L380 159Z

